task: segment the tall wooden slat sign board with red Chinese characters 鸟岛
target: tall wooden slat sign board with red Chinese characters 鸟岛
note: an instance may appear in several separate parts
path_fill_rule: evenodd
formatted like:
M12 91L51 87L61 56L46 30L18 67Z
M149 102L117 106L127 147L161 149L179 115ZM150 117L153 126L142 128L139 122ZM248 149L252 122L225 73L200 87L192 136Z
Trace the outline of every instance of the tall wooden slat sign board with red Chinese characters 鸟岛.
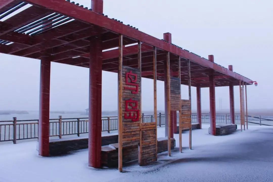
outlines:
M123 66L122 145L140 143L140 70Z

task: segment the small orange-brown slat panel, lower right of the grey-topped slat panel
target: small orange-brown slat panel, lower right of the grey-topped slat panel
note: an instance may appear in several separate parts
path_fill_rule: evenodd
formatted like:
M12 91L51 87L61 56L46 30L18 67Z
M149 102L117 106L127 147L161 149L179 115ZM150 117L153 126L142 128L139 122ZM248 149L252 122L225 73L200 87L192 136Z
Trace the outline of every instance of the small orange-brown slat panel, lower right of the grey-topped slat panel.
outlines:
M180 129L191 128L191 100L181 100Z

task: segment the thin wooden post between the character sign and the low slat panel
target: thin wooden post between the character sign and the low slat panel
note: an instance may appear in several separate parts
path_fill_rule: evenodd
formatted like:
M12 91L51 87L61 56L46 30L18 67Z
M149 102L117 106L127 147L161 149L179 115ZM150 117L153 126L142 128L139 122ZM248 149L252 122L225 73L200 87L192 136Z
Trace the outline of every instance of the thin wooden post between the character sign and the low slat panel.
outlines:
M138 69L140 70L140 77L141 77L141 42L138 41ZM142 161L142 131L141 131L141 123L143 120L143 117L141 117L141 78L140 78L140 111L139 111L139 117L141 118L139 120L140 122L140 144L139 144L139 149L138 149L138 164L141 164Z

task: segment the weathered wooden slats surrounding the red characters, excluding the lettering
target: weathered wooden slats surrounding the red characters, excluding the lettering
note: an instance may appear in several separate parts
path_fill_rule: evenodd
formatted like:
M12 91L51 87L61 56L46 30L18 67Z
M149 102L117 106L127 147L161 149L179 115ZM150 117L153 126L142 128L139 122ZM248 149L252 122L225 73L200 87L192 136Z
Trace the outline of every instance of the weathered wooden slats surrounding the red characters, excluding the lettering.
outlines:
M125 78L126 78L126 72L130 72L137 74L137 81L138 84L138 93L132 94L132 90L125 89L125 87L135 88L135 86L126 85ZM122 97L122 145L133 145L133 144L139 144L140 143L140 121L132 121L132 119L124 119L124 115L128 114L128 112L125 111L125 101L132 99L138 101L138 107L137 109L140 110L140 70L136 68L131 68L127 66L122 67L122 82L123 82L123 97ZM130 80L130 79L129 79ZM132 112L135 113L135 112ZM131 113L131 114L132 114ZM140 119L140 118L139 118Z

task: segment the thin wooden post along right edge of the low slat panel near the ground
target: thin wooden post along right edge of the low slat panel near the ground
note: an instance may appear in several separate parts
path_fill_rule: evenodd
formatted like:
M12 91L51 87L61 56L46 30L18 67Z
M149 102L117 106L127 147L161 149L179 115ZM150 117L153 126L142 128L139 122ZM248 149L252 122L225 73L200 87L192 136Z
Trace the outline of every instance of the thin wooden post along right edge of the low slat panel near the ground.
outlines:
M154 116L155 116L155 144L156 144L156 160L157 160L157 96L156 96L156 47L153 47L153 79L154 79Z

